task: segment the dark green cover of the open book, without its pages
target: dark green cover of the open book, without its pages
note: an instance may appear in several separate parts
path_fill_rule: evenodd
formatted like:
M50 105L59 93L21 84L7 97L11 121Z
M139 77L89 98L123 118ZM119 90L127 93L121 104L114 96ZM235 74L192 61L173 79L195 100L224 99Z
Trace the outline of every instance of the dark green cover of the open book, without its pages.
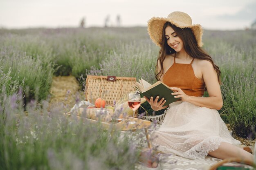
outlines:
M167 106L168 104L172 102L177 102L179 101L180 98L175 98L175 95L172 95L173 91L165 86L163 83L160 83L153 88L150 88L149 90L143 92L142 94L146 96L148 99L150 99L151 96L153 96L153 100L157 96L159 96L159 99L157 102L159 102L163 97L166 100L165 104L163 106Z

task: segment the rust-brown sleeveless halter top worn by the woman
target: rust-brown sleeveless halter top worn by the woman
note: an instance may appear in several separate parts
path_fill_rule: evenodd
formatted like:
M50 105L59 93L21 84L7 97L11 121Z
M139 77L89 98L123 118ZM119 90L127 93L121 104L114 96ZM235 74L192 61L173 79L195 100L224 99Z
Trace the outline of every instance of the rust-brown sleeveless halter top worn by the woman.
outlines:
M182 91L186 95L189 96L197 96L201 97L204 95L204 82L202 80L195 77L192 63L195 58L191 61L190 64L179 64L174 63L173 65L166 71L163 77L163 82L169 87L178 87L181 88Z

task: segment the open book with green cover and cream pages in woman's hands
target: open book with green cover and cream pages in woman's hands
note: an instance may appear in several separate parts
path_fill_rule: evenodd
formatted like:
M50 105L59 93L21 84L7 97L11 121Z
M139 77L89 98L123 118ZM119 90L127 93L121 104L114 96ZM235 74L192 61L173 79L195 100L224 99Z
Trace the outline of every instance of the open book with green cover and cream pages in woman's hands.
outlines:
M180 98L175 98L175 95L172 95L173 91L168 87L166 84L164 84L161 81L158 81L154 84L150 84L146 82L144 79L139 79L139 82L136 82L134 86L132 86L136 90L140 91L144 96L146 96L148 99L150 99L151 96L153 96L153 100L157 96L159 96L159 99L157 102L159 102L163 97L166 100L165 104L163 106L167 106L168 104L172 102L177 102L180 100Z

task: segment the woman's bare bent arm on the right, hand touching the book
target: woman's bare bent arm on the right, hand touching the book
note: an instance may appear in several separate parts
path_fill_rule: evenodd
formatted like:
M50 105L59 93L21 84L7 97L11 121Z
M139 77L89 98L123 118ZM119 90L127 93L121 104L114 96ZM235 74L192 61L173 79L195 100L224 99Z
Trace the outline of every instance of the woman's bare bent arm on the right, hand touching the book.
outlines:
M182 101L190 102L200 107L220 110L222 108L223 101L217 73L214 70L211 62L207 60L202 60L200 62L200 68L202 71L204 83L209 93L209 97L188 96L180 88L177 87L171 88L171 90L175 91L175 93L172 93L172 95L177 95L175 97L181 97Z

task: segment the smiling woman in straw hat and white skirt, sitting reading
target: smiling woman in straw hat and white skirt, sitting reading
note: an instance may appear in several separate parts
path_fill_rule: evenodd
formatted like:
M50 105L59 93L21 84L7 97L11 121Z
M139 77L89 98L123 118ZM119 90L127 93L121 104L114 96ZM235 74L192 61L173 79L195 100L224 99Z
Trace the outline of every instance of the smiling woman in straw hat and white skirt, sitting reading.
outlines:
M173 12L167 18L148 21L151 40L160 46L156 78L171 87L180 101L170 104L162 126L153 135L153 145L190 159L207 155L225 159L253 160L253 155L229 134L217 110L222 108L220 70L202 47L202 27L189 15ZM209 97L202 97L207 89ZM145 96L144 96L145 97ZM146 97L145 97L146 98ZM146 98L155 111L164 99Z

